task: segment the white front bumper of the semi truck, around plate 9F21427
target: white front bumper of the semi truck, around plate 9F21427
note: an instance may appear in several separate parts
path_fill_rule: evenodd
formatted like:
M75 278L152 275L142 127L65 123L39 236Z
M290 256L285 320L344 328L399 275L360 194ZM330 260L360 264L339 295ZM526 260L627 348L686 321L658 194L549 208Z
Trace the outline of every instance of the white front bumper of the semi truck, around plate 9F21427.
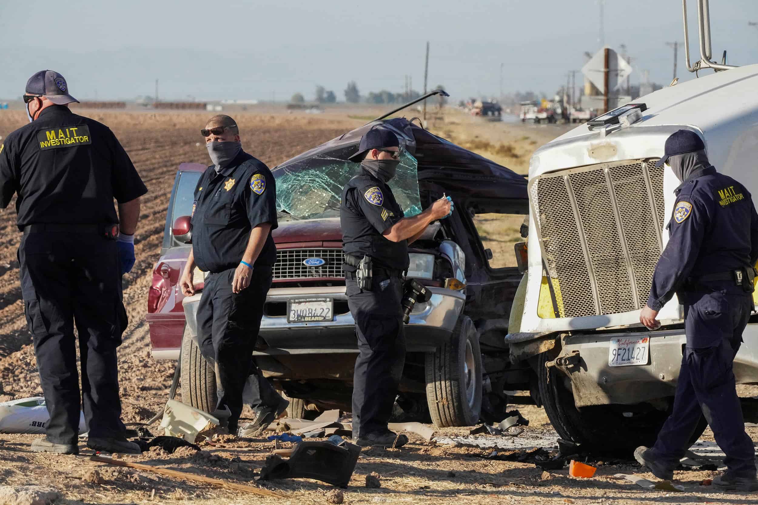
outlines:
M609 366L611 338L650 337L647 365ZM735 357L738 384L758 382L758 324L747 326L744 343ZM556 367L568 376L577 407L605 404L638 404L673 396L679 378L687 338L684 329L656 332L575 334L563 339L559 356L579 352L576 366Z

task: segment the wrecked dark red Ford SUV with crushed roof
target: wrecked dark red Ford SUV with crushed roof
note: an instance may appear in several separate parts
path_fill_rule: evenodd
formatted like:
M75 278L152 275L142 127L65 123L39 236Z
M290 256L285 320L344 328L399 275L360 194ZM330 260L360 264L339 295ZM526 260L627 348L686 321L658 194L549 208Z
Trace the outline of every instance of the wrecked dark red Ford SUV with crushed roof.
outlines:
M408 276L427 285L432 296L416 304L406 326L408 352L396 405L411 416L431 417L437 426L500 419L507 404L503 386L529 389L528 371L509 362L503 340L522 278L514 245L522 241L528 213L526 180L404 118L373 121L272 170L277 263L255 351L258 366L290 397L292 417L350 410L358 351L342 271L340 194L359 167L347 159L374 126L400 139L401 165L390 186L406 216L443 194L456 202L453 216L433 223L409 248ZM147 320L153 357L180 359L183 401L212 410L215 373L196 344L200 295L183 298L178 285L202 170L181 164L177 172ZM202 289L202 273L195 279Z

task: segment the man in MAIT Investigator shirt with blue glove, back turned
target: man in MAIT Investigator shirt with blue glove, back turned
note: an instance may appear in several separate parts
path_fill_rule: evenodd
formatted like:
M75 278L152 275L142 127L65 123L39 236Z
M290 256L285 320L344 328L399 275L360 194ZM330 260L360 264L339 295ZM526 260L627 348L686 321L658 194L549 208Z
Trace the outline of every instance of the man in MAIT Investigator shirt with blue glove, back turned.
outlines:
M0 206L18 195L21 293L50 414L32 450L77 454L83 404L89 447L139 454L121 422L116 348L127 327L121 276L134 264L147 189L113 132L69 110L77 100L61 74L35 73L23 101L30 123L0 146Z

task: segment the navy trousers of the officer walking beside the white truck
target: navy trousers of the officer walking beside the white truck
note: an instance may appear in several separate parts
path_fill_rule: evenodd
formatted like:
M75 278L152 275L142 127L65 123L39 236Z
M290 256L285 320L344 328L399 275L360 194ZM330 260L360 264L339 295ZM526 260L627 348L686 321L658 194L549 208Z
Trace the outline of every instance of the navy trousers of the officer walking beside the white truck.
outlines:
M693 298L687 304L687 298ZM716 443L726 457L724 463L733 475L756 475L753 441L745 433L740 399L735 389L732 363L742 342L742 332L750 318L750 295L687 293L684 326L688 346L684 351L674 399L674 410L663 425L654 457L678 466L690 447L702 413L713 430ZM703 334L716 335L712 347L690 347L691 336L702 341ZM717 335L722 335L718 338Z

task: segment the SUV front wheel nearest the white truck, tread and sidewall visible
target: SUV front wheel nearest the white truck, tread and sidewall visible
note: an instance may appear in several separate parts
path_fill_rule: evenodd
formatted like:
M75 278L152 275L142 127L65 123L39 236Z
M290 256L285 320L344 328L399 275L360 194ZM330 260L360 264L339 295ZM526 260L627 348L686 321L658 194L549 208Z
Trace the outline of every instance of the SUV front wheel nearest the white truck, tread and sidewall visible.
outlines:
M426 394L434 426L473 426L481 413L482 364L479 337L461 316L453 338L426 354Z

